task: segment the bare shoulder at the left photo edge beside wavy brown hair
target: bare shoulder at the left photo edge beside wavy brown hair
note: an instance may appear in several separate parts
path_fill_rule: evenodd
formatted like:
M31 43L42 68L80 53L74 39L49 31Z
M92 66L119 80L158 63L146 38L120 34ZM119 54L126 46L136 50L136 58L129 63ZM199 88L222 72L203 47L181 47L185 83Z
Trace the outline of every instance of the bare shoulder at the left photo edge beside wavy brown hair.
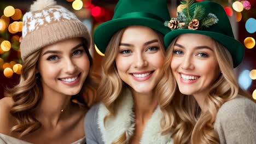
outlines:
M14 117L10 115L10 109L13 106L13 99L5 97L0 99L0 133L8 134Z

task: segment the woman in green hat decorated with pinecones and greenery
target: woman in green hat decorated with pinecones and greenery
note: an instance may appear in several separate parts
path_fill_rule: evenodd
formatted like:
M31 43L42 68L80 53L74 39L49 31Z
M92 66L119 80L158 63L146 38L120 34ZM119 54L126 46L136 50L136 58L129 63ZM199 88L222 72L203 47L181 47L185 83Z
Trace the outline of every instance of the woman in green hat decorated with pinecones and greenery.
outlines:
M171 28L159 95L174 119L174 143L255 143L256 105L238 86L233 68L244 47L234 39L221 5L182 1L184 9L165 25ZM162 99L162 98L160 98Z

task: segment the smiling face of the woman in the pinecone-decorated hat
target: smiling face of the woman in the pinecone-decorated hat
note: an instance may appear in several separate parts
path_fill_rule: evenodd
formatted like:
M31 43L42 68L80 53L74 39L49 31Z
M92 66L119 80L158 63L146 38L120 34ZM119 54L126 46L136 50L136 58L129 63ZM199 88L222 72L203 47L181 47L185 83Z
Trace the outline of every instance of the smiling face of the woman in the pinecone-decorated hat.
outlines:
M214 40L202 34L182 34L173 47L171 69L179 91L205 95L219 76Z

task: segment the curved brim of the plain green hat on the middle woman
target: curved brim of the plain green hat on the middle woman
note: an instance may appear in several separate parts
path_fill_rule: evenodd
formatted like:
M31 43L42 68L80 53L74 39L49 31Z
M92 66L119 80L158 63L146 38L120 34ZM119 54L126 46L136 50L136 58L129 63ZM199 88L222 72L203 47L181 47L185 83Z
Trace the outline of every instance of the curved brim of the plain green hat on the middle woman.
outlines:
M150 27L155 31L162 33L163 35L165 35L167 32L170 32L170 29L164 26L164 22L155 19L150 19L147 17L125 17L120 19L114 19L102 23L95 29L94 42L98 50L100 50L102 53L105 53L106 47L110 39L113 37L114 33L116 33L122 28L137 25Z

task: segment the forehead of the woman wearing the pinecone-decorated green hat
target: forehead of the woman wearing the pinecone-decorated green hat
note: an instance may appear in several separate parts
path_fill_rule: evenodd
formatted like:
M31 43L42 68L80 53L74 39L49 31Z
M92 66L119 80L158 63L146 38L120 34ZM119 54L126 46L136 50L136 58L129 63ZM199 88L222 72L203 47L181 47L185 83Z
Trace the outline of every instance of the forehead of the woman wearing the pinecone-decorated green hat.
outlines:
M178 36L176 43L184 46L209 46L213 47L214 40L203 34L186 33Z

